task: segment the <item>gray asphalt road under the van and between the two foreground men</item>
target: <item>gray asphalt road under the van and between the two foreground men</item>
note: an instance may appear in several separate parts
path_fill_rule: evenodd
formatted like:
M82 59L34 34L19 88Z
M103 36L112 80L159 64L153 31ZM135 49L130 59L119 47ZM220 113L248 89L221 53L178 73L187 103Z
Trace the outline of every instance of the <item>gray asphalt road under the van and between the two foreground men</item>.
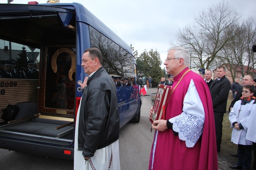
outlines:
M154 131L150 133L148 120L152 107L151 95L157 89L147 89L141 106L139 123L128 123L120 130L119 151L122 170L146 170L150 157ZM0 141L1 142L1 141ZM0 149L0 170L72 170L73 160L31 155Z

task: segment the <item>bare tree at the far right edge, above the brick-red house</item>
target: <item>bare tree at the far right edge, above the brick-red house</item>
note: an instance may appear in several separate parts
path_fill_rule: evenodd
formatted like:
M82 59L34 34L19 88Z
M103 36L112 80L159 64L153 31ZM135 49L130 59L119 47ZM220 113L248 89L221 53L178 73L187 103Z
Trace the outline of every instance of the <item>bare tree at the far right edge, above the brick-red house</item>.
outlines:
M243 20L239 26L234 27L235 38L222 49L222 63L228 65L234 81L237 78L237 70L241 71L242 77L246 74L252 74L255 65L255 56L251 47L256 40L256 20L254 17L248 17ZM246 67L245 67L246 66ZM239 68L239 69L238 69Z

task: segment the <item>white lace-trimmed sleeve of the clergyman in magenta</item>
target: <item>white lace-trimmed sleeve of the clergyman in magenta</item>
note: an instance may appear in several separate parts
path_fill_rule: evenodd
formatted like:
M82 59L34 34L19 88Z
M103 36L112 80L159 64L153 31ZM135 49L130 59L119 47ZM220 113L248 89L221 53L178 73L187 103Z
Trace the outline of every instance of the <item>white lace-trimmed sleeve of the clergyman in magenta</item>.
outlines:
M173 130L179 133L179 138L186 141L186 146L194 147L203 133L204 109L193 80L183 101L182 114L169 121L173 123Z

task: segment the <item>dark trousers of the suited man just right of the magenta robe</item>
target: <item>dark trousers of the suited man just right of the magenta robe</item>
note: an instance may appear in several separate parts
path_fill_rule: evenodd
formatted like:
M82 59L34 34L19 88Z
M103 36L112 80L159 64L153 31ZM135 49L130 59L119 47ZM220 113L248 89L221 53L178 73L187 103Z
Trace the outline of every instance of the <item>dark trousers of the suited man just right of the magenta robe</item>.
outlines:
M214 121L215 121L217 151L221 151L222 122L223 122L224 113L221 113L221 112L213 112L213 113L214 113Z

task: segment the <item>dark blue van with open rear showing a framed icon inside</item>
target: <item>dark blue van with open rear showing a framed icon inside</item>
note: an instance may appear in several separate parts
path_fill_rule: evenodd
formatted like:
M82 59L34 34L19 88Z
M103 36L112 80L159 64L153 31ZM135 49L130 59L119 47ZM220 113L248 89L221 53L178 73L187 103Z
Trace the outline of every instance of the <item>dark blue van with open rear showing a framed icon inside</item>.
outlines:
M83 5L1 4L0 39L9 44L0 48L4 69L11 60L12 74L26 74L29 60L32 73L39 72L38 80L0 78L0 107L6 108L0 112L0 148L73 159L78 82L88 76L81 58L91 47L100 49L110 76L131 80L130 86L116 87L120 128L140 121L139 84L146 77L139 82L130 46Z

